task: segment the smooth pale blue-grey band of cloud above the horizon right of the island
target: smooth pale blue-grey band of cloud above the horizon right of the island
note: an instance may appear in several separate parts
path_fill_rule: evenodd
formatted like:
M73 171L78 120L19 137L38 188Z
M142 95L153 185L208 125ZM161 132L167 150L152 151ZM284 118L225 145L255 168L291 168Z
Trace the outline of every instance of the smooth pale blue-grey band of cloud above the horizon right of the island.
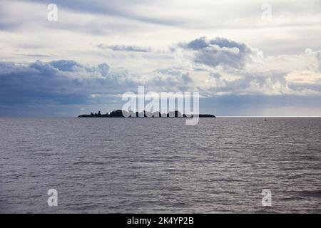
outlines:
M285 108L286 107L286 108ZM244 116L320 116L321 99L300 95L223 95L200 98L200 112Z

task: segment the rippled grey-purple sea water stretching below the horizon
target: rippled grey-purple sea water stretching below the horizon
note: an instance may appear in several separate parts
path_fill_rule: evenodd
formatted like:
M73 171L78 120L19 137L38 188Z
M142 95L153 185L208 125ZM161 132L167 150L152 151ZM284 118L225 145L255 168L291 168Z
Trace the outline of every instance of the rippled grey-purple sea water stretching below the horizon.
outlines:
M2 213L321 213L321 118L0 118L0 158Z

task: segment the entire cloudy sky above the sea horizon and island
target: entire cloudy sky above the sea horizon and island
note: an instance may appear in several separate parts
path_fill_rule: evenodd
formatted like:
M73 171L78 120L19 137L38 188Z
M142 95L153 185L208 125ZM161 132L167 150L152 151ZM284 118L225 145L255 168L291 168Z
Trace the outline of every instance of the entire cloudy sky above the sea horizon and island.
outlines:
M321 116L320 38L320 0L0 0L0 116L106 113L138 86L218 116Z

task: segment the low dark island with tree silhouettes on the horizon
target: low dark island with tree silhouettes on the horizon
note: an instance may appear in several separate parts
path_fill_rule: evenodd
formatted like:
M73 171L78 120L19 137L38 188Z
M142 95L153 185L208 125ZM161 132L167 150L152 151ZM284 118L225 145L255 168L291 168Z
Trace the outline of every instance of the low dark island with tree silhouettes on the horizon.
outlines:
M177 110L175 110L175 112L170 112L167 114L163 114L163 116L161 116L161 113L156 112L156 113L148 113L146 111L143 111L141 113L128 113L128 117L129 118L187 118L187 116L185 114L181 114L179 113ZM165 116L166 115L166 116ZM199 118L216 118L215 115L210 115L210 114L200 114L198 115ZM101 111L98 111L98 113L91 113L89 115L78 115L78 118L125 118L123 116L123 110L114 110L112 111L110 114L106 113L106 114L101 114ZM193 118L193 115L191 117L188 118Z

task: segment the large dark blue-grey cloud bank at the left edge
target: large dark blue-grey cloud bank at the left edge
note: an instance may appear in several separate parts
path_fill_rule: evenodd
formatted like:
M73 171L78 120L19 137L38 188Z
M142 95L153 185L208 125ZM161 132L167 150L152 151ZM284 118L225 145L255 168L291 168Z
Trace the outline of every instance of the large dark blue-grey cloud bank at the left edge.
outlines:
M91 94L123 92L125 75L109 72L106 63L83 66L75 61L0 63L0 105L91 103Z

